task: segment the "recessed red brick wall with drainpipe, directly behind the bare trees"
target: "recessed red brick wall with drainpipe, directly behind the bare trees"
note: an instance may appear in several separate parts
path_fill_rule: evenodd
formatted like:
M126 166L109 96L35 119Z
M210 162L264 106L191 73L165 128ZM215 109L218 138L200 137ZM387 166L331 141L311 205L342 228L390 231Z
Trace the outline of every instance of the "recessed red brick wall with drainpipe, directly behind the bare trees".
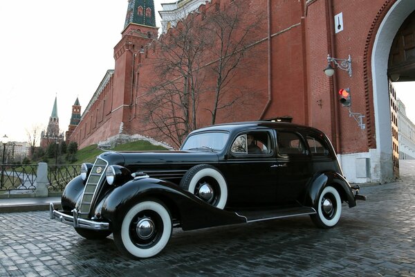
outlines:
M222 8L230 8L232 5L229 1L221 1ZM259 4L259 2L261 2ZM212 1L207 5L205 10L207 14L212 12L219 1ZM246 19L242 21L250 22L252 17L262 15L268 16L267 1L246 1L249 6L249 13L246 13ZM242 64L248 64L247 67L237 69L234 72L234 79L229 87L232 92L229 97L241 93L238 105L232 105L227 109L219 111L216 123L241 121L241 120L260 120L274 118L277 116L292 116L295 123L306 124L306 98L304 96L304 59L302 45L302 28L301 15L302 6L295 1L284 1L277 3L271 1L270 11L270 36L271 43L268 45L267 26L265 24L255 30L255 46L250 48ZM227 6L228 5L228 6ZM288 12L289 10L289 12ZM251 18L250 18L251 17ZM168 36L169 34L167 34ZM173 34L174 35L174 34ZM149 47L151 48L151 47ZM268 48L270 48L270 72L268 71ZM151 50L149 50L151 52ZM157 50L156 53L157 54ZM151 52L151 55L153 53ZM146 89L151 87L151 80L160 82L154 76L155 70L152 67L152 57L142 60L140 66L140 84L138 85L138 95L147 93ZM209 63L207 60L206 63ZM215 64L212 64L214 66ZM205 69L205 74L209 75L210 69ZM206 78L209 80L209 78ZM300 80L298 82L298 79ZM270 105L268 102L268 80L270 80ZM294 81L293 81L294 80ZM212 80L214 82L214 80ZM213 86L213 84L211 84ZM210 87L210 84L206 84ZM201 96L201 104L198 109L198 127L210 125L210 118L207 109L212 102L212 93L205 93ZM131 134L138 132L134 126L140 124L140 114L129 123L131 129L126 132ZM149 134L151 136L151 134Z

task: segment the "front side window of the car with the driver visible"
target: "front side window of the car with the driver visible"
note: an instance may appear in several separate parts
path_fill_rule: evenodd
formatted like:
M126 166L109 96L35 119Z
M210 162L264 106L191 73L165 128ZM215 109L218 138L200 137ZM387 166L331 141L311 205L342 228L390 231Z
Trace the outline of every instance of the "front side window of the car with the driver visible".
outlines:
M230 151L234 154L270 154L270 136L268 132L250 132L237 136Z

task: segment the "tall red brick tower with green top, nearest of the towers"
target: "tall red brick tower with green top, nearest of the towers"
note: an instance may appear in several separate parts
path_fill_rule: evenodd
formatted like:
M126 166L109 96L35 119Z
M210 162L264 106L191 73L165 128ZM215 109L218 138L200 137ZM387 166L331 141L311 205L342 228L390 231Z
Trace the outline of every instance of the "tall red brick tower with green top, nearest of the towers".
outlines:
M153 0L130 0L122 30L122 38L114 47L115 75L113 81L112 111L107 137L129 134L133 116L133 91L138 75L137 69L145 55L144 48L157 39L158 28L154 15Z

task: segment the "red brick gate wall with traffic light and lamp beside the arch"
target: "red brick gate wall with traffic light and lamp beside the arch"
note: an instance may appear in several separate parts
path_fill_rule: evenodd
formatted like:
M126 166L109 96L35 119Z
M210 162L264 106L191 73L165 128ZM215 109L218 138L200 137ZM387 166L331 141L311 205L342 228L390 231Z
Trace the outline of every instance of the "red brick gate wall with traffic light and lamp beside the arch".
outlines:
M394 1L311 1L306 9L306 60L307 83L310 95L310 125L329 134L340 153L367 152L375 145L369 144L374 136L374 109L371 96L371 80L364 72L370 72L370 53L379 21L379 12L385 3ZM344 30L334 34L333 16L342 12ZM387 10L382 10L384 16ZM332 33L333 32L333 36ZM366 51L366 52L365 52ZM326 77L326 55L347 59L351 55L352 77L346 71L335 69L333 78ZM366 58L369 62L364 63ZM365 83L366 82L366 83ZM351 111L364 116L366 129L349 117L349 109L338 104L338 90L351 90ZM367 91L369 89L369 91ZM366 92L365 92L366 90ZM370 95L368 95L370 93ZM335 107L337 105L337 107Z

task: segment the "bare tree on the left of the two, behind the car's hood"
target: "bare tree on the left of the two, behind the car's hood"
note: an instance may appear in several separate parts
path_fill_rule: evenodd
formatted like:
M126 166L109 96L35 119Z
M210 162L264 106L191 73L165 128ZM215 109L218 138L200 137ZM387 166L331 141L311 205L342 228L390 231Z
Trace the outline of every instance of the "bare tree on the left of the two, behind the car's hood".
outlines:
M206 50L197 27L194 15L190 15L178 21L173 35L154 42L160 48L154 68L163 81L149 87L149 98L142 102L145 118L151 123L147 131L169 138L176 147L197 127L199 94L203 91L203 74L197 69Z

